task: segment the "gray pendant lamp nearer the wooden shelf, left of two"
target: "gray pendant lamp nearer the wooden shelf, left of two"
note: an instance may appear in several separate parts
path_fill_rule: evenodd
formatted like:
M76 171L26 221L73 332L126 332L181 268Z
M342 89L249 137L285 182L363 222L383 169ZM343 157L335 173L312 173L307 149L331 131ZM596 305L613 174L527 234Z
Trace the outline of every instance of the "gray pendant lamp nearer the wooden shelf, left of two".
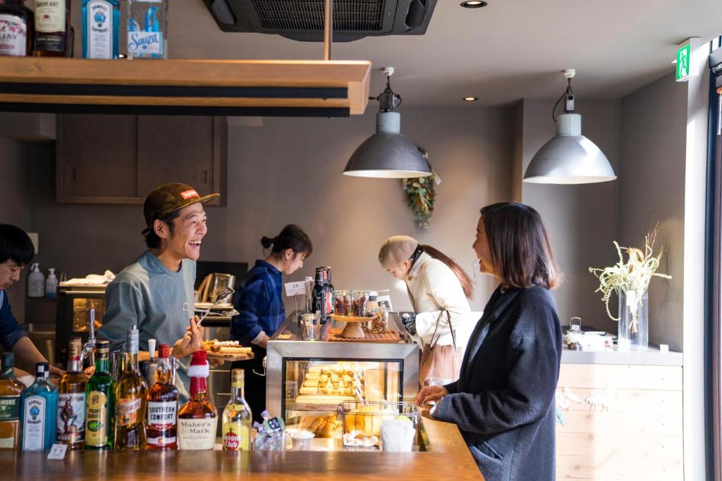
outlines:
M401 135L401 115L393 112L401 105L401 96L391 90L393 67L383 69L386 89L376 97L376 133L358 146L344 169L352 177L407 179L428 177L431 169L419 150Z

